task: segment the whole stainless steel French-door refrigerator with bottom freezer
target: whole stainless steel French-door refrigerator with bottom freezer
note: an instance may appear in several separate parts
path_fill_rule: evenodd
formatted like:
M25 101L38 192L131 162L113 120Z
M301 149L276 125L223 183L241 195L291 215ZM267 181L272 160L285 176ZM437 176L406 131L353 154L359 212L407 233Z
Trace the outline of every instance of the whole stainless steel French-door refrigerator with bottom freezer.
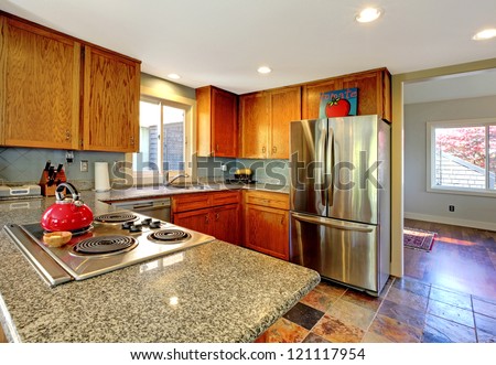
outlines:
M390 268L390 125L291 122L290 260L378 296Z

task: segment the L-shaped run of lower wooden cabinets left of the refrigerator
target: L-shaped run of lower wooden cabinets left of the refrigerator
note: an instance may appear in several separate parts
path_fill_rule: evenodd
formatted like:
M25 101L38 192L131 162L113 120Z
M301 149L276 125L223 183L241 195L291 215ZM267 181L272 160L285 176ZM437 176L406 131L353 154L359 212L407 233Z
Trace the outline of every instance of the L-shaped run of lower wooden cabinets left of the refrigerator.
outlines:
M175 195L172 197L172 222L288 260L289 195L244 191L242 196L241 211L240 191Z

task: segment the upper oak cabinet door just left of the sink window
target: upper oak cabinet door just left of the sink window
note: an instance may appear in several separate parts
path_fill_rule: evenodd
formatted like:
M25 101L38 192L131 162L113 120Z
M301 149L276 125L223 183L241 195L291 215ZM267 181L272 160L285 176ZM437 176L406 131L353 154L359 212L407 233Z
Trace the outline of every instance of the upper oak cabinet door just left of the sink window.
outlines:
M85 47L85 150L139 150L140 64L99 49Z

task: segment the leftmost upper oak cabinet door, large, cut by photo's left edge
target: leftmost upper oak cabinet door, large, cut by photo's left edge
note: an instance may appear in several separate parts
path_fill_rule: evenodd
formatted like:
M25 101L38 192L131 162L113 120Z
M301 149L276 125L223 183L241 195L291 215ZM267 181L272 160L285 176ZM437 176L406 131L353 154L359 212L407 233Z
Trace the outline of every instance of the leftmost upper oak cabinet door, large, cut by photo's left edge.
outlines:
M0 143L77 149L80 45L0 17Z

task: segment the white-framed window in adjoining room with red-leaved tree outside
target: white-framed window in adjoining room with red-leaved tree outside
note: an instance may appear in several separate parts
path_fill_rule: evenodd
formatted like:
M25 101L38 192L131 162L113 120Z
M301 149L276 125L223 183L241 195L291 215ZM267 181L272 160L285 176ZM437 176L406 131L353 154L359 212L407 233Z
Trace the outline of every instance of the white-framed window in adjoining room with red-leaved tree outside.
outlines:
M428 124L428 191L495 194L496 119Z

